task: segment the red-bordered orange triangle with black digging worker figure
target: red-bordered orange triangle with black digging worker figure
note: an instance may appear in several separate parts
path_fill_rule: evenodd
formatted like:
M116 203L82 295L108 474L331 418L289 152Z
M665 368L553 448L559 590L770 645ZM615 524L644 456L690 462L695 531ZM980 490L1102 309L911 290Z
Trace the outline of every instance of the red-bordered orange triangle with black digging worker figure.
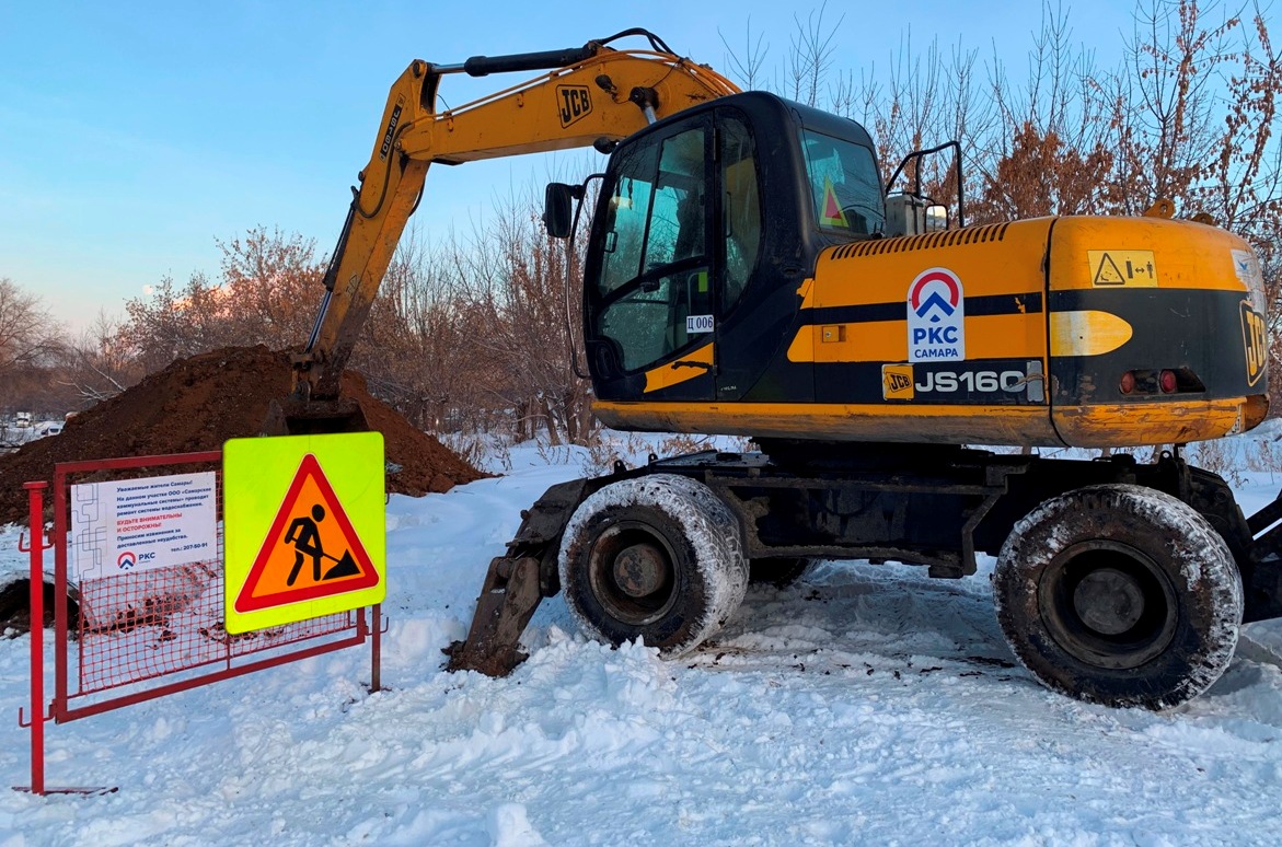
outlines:
M315 455L306 454L236 596L237 613L345 595L378 584Z

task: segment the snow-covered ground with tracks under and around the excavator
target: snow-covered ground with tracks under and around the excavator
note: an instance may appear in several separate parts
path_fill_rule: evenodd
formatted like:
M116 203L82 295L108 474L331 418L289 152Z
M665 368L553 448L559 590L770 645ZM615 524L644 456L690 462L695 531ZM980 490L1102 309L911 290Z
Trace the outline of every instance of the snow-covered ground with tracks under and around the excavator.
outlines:
M678 662L576 633L560 598L508 679L440 670L486 566L579 463L388 506L383 680L349 650L47 728L47 780L0 791L27 844L1274 844L1282 627L1165 714L1083 705L1014 666L987 568L823 565L750 588ZM1282 478L1242 472L1247 511ZM0 528L0 570L24 569ZM991 568L991 563L988 564ZM46 633L46 650L53 638ZM27 637L0 639L0 779L29 782ZM51 684L51 683L50 683Z

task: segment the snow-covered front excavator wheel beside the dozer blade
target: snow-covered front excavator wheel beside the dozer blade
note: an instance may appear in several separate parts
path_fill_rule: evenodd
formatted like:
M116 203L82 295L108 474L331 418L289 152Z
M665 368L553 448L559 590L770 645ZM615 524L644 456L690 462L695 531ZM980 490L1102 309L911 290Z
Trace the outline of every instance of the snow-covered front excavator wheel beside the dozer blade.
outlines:
M694 648L747 588L738 522L703 483L624 479L574 511L560 548L565 604L588 636L641 638L664 656Z

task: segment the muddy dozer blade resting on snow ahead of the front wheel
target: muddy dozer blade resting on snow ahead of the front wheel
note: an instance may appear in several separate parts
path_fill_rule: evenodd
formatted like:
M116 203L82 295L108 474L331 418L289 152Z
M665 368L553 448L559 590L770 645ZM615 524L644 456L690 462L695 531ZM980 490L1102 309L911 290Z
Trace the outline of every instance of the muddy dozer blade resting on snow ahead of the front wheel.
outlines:
M517 645L541 600L537 559L495 557L477 598L467 641L455 641L445 650L450 656L449 670L477 670L487 677L510 674L526 660Z

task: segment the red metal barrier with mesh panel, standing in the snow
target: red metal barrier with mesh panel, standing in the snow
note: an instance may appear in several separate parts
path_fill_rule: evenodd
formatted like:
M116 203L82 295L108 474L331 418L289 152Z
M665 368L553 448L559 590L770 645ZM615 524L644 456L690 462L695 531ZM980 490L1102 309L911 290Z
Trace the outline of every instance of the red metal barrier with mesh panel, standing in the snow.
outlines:
M221 451L104 459L55 466L54 529L42 528L45 483L28 483L31 498L32 677L31 791L44 784L44 721L67 723L131 703L206 686L309 656L372 641L370 689L381 687L379 607L324 615L283 627L232 636L223 627L223 533L208 560L140 572L69 574L77 552L71 538L71 491L77 482L106 482L171 473L215 473L215 500L222 504ZM54 698L44 706L44 550L54 551ZM68 589L72 591L68 591ZM65 598L74 598L69 609ZM73 618L74 613L74 618ZM77 789L78 791L78 789Z

